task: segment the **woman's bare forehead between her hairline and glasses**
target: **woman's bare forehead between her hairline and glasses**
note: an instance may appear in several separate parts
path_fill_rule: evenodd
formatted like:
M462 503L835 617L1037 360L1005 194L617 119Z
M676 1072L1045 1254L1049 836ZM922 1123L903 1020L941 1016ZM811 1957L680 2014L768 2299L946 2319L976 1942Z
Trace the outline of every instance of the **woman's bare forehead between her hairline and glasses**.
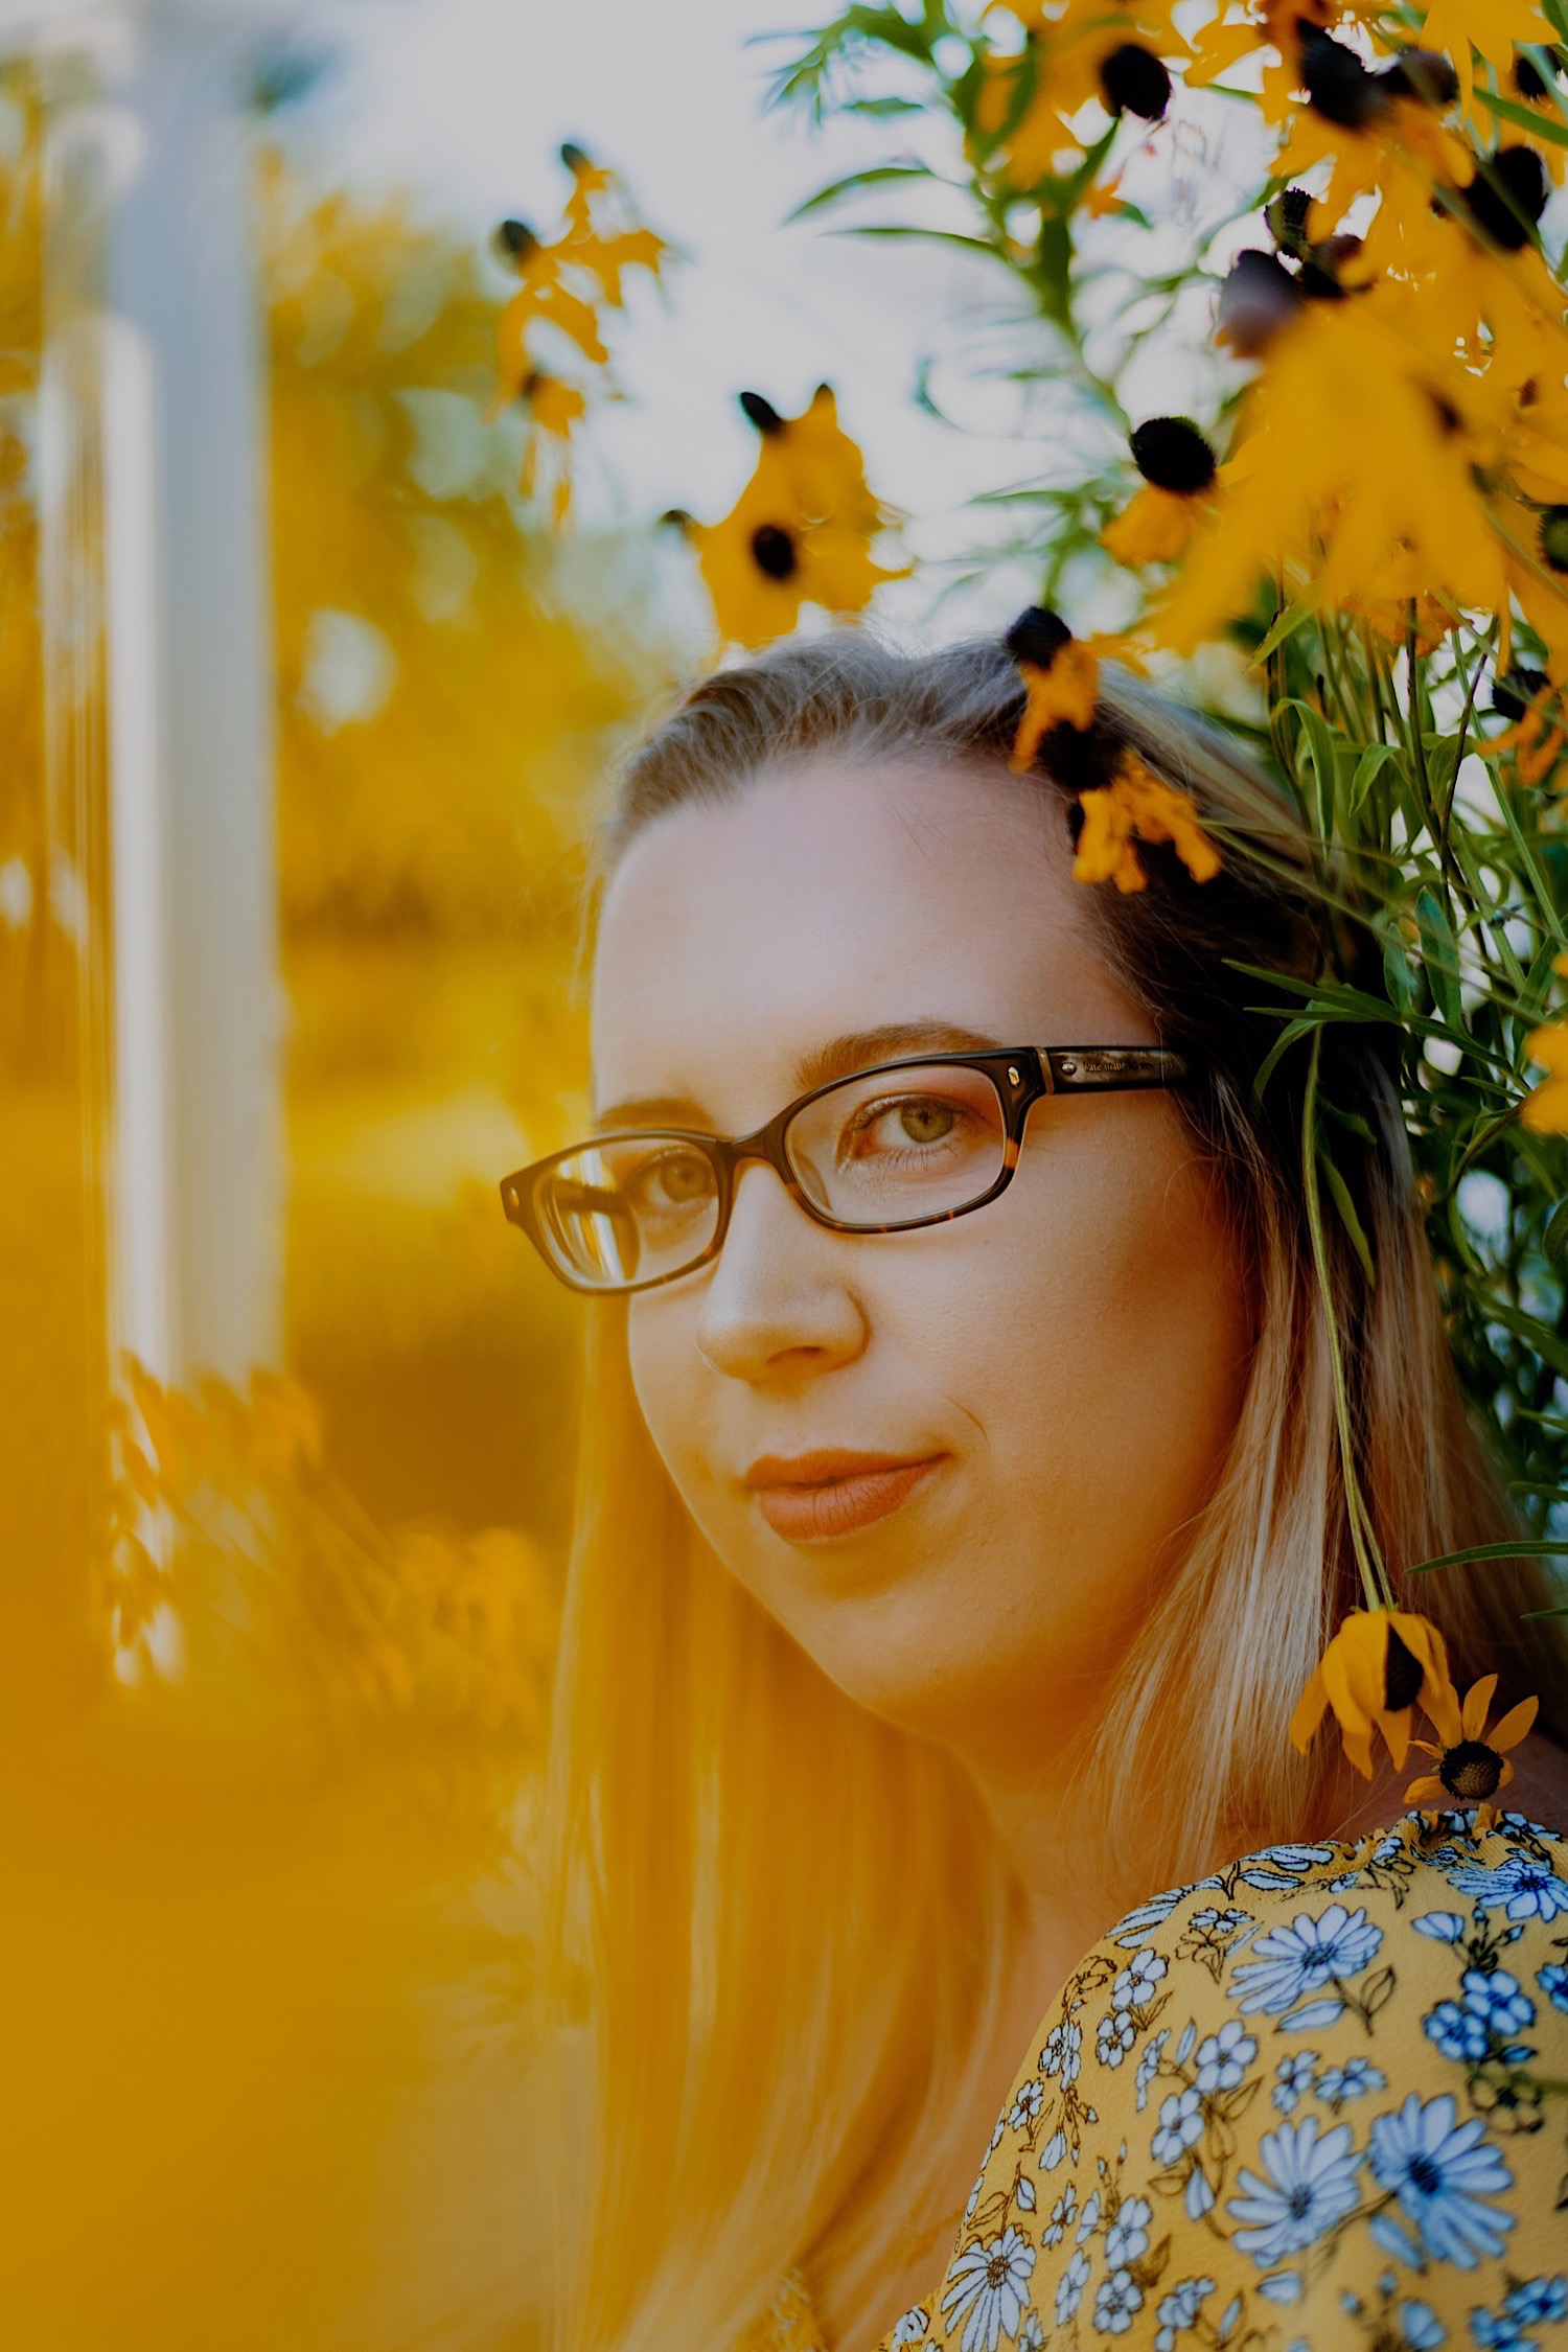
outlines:
M599 917L595 1103L686 1098L741 1129L846 1033L1135 1042L1128 1011L1037 783L823 760L628 849Z

